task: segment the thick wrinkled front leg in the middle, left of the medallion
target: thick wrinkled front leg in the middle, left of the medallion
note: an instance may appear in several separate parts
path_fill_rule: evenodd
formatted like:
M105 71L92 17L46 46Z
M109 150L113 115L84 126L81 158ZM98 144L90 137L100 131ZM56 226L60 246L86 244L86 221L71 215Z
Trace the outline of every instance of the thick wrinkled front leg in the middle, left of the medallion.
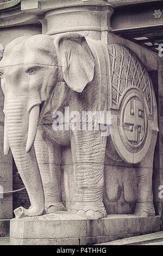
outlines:
M106 217L103 204L105 143L100 131L73 131L74 198L69 211Z

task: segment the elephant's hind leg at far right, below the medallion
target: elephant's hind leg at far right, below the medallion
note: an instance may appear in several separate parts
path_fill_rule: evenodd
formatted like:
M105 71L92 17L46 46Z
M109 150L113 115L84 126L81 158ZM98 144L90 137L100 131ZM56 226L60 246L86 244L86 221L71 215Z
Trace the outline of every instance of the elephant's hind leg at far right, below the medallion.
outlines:
M136 167L137 200L135 215L142 217L155 216L153 204L152 175L153 156L157 134L153 133L151 147L142 162Z

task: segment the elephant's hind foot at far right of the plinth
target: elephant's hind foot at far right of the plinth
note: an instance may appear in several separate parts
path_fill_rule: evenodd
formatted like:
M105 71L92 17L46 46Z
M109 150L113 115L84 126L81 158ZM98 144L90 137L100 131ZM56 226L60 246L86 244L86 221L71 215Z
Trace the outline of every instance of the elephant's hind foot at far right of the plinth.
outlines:
M153 203L143 203L143 202L136 203L134 214L141 217L155 216Z

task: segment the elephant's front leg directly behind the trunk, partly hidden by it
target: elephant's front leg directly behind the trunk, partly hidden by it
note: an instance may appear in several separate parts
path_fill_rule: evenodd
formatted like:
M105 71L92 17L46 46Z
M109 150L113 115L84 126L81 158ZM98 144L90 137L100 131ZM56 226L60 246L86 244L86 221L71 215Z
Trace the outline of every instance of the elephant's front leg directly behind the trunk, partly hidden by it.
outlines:
M61 149L47 136L49 125L39 126L35 139L35 152L42 178L47 213L66 211L61 196Z

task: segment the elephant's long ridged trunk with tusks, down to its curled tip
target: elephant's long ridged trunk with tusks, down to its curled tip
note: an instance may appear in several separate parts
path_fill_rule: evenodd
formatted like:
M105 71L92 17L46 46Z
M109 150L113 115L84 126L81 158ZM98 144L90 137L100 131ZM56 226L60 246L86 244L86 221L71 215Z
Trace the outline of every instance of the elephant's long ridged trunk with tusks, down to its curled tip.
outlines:
M28 210L16 209L16 217L42 215L44 210L42 180L33 146L39 120L39 106L34 106L30 112L27 112L25 106L21 96L19 101L16 98L5 102L4 151L7 153L10 145L31 203Z

